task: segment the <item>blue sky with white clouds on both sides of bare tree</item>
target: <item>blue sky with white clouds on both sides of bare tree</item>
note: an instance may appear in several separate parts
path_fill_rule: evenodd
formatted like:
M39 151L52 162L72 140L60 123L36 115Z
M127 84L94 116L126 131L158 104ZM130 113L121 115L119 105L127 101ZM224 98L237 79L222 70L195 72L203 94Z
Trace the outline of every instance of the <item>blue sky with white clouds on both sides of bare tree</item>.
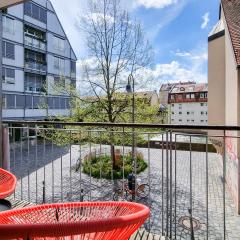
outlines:
M79 59L86 58L84 39L76 27L87 0L51 0ZM219 0L122 0L139 20L154 50L149 90L162 83L207 82L207 37L219 17ZM78 68L78 76L80 76Z

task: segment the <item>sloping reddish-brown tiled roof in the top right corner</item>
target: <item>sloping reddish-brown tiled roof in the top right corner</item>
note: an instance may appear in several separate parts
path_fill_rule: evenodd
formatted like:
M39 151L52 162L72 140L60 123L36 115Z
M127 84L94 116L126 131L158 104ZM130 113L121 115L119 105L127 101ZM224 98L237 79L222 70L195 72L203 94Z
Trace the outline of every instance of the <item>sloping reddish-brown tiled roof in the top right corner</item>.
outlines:
M240 66L240 0L221 0L237 65Z

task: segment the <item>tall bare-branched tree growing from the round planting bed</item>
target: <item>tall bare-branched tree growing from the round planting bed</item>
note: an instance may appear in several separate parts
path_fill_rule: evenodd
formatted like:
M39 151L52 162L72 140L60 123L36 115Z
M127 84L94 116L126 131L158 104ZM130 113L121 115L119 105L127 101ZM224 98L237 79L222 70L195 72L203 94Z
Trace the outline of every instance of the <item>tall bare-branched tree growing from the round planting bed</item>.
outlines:
M86 35L91 59L82 65L81 81L89 84L94 94L90 101L105 116L101 120L116 122L129 105L127 96L121 101L116 96L125 88L129 74L134 76L150 64L151 47L141 24L130 18L121 0L90 0L88 13L77 26ZM114 158L113 145L111 149Z

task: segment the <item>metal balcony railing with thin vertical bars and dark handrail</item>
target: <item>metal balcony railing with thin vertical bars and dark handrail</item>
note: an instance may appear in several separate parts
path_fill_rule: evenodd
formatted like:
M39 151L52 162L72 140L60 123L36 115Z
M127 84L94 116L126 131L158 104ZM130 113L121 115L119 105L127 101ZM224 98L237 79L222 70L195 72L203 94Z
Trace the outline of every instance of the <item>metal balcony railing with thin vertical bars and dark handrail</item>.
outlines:
M240 236L236 212L240 127L6 123L10 168L18 177L17 199L36 204L111 201L121 189L121 199L151 208L144 228L153 234L169 239ZM106 163L107 156L112 157ZM142 164L138 158L147 167L137 174ZM128 172L138 185L149 186L146 196L132 194L123 184Z

